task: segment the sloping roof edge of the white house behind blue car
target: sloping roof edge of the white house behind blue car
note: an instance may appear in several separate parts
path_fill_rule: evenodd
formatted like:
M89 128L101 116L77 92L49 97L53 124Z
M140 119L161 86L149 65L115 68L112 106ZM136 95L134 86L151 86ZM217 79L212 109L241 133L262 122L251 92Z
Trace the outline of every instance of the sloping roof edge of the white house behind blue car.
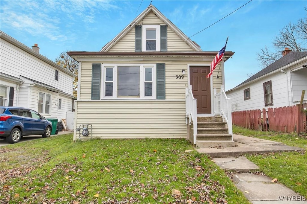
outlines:
M76 77L77 75L70 72L69 70L57 65L55 62L52 62L50 59L44 57L43 55L37 53L36 51L32 50L31 48L29 48L28 46L26 46L25 44L22 44L21 42L15 40L14 38L12 38L11 36L7 35L5 32L0 31L0 37L1 39L11 43L12 45L20 48L21 50L29 53L30 55L33 55L34 57L42 60L43 62L46 62L47 64L53 66L54 68L61 70L62 72L72 76L72 77Z

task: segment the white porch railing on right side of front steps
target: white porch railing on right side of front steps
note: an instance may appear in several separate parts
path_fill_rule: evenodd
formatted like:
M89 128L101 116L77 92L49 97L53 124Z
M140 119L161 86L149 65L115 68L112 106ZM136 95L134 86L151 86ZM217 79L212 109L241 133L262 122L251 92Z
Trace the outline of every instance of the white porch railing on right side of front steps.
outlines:
M216 89L214 90L214 115L220 115L226 121L228 125L228 134L232 136L232 118L231 118L231 106L230 106L230 98L227 98L225 93L225 88L221 86L221 92L216 93Z

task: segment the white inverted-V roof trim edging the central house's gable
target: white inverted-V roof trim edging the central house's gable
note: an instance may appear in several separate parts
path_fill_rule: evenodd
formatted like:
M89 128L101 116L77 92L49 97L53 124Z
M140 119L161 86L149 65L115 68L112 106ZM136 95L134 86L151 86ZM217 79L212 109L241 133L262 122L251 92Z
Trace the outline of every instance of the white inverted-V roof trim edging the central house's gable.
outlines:
M161 19L170 29L173 30L185 43L187 43L194 51L202 51L200 47L192 40L188 38L176 25L174 25L169 19L167 19L156 7L150 4L138 17L136 17L129 25L126 26L113 40L108 42L100 52L107 52L113 47L119 40L122 39L129 31L131 31L135 25L139 25L142 19L150 12L153 12L158 18Z

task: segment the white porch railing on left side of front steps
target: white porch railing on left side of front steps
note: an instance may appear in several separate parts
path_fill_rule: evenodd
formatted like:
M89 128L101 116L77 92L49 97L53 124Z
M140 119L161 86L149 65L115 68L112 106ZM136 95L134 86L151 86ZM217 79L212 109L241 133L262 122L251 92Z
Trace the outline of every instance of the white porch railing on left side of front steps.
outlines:
M196 112L196 99L192 93L192 85L189 85L188 88L185 89L185 123L189 125L193 122L193 144L196 144L196 134L197 134L197 112Z

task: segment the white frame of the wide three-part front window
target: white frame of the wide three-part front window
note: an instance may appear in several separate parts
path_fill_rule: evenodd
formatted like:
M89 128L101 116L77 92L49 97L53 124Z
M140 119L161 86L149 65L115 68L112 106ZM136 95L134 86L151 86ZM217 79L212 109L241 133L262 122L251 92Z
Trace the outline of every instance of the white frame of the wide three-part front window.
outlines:
M140 67L140 97L117 97L117 67L118 66L139 66ZM152 68L152 96L145 96L145 67ZM106 68L113 68L113 96L105 96L105 74ZM100 98L101 99L118 99L118 100L140 100L140 99L156 99L156 64L102 64L102 72L101 72L101 89L100 89Z

